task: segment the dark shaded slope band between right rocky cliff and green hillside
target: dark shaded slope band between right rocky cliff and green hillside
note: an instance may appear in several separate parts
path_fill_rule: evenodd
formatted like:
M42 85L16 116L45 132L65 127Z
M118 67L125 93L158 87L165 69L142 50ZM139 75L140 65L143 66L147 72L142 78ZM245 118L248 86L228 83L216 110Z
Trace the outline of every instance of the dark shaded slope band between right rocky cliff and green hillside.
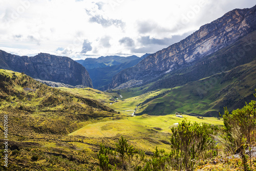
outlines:
M196 81L217 73L232 70L235 67L255 60L255 54L256 31L253 31L215 53L185 64L174 71L158 77L147 91L182 86L190 81Z

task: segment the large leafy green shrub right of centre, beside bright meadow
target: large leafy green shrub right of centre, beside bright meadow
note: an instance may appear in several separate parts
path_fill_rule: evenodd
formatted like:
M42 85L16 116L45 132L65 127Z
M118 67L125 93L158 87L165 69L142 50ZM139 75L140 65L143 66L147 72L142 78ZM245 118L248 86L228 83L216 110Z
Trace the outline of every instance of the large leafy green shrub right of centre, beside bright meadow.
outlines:
M172 151L169 164L176 170L193 170L196 160L212 157L211 149L215 148L217 126L203 123L190 123L183 120L177 127L172 127L170 138Z

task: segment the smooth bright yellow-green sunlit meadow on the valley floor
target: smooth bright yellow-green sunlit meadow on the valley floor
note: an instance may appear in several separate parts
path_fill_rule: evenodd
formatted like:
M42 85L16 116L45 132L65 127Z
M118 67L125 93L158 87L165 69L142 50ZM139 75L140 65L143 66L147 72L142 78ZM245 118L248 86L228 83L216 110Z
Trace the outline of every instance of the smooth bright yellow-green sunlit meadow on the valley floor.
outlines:
M192 122L223 125L223 120L215 117L199 118L184 115L184 118ZM101 138L111 147L114 147L115 141L122 135L129 139L129 142L137 149L144 152L153 152L156 146L168 151L170 127L175 126L174 123L181 122L184 118L175 115L119 117L115 120L88 124L69 135L84 136L94 141Z

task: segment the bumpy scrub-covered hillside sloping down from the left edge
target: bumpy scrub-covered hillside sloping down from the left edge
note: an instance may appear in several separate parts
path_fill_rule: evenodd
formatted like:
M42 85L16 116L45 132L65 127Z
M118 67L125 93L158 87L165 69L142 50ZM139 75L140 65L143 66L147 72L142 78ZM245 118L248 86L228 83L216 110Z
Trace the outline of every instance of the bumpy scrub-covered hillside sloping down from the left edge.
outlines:
M67 134L81 121L116 114L96 100L50 88L22 73L0 70L0 80L0 111L15 118L10 124L15 134Z

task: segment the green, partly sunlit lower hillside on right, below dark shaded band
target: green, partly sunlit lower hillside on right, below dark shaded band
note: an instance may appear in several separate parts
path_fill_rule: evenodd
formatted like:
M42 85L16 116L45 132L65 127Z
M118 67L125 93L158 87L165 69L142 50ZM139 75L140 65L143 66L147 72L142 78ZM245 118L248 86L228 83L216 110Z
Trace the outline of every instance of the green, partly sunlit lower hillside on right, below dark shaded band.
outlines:
M183 113L219 116L224 106L229 110L241 108L254 99L256 60L232 70L186 83L183 86L148 91L153 83L143 87L111 90L121 94L117 102L107 106L123 114L169 115ZM148 91L148 92L147 92ZM112 95L113 96L113 95Z

